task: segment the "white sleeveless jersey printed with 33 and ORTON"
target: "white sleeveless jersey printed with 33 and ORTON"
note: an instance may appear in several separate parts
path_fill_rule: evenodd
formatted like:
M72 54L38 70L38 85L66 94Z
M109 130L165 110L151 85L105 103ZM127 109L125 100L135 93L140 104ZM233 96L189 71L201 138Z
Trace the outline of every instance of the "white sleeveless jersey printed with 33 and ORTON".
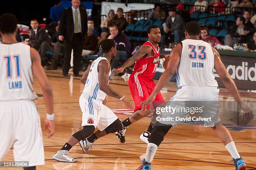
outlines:
M202 40L183 40L176 76L177 87L218 87L213 71L214 55L210 44Z

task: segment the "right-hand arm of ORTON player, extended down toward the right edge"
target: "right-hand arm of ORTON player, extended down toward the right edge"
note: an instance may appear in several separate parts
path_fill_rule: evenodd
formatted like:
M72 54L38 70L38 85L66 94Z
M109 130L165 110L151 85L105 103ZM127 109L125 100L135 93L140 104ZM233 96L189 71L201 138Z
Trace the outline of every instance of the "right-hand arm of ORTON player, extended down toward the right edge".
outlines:
M220 76L220 80L225 85L226 89L230 92L230 94L234 97L236 101L238 101L239 107L246 113L251 113L252 110L248 107L244 102L241 101L241 97L239 95L238 89L236 87L236 83L228 74L225 65L220 60L219 52L212 47L212 52L214 54L214 68L217 74Z

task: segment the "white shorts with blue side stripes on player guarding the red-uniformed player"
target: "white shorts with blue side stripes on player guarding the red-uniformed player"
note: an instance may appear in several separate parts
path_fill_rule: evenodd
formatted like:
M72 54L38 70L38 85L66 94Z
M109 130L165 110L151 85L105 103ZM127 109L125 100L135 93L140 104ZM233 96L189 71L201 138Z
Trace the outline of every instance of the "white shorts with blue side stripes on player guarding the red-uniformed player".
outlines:
M93 125L103 131L118 119L110 108L102 104L102 100L93 99L85 93L80 96L79 105L83 114L82 126Z

